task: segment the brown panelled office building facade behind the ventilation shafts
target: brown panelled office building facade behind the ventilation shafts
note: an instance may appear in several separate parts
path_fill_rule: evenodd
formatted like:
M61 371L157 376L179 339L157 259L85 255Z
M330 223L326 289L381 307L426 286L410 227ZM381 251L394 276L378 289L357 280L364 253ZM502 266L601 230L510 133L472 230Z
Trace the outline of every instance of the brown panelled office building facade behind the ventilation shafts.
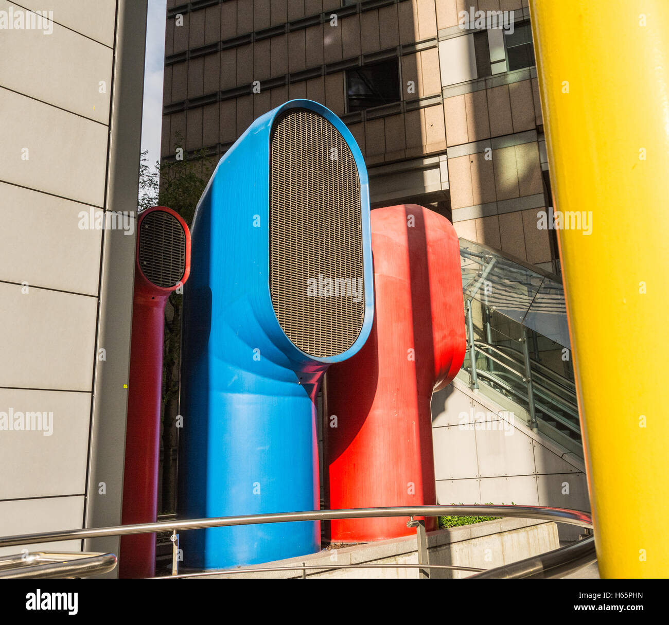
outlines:
M372 207L559 271L527 0L168 0L161 156L212 162L293 98L349 126Z

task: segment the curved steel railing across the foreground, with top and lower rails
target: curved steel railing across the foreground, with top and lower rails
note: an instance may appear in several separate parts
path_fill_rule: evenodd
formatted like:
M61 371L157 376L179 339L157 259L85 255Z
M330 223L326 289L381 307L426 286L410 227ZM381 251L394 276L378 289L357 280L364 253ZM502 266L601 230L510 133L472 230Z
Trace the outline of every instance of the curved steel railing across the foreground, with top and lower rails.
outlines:
M44 533L23 534L0 538L0 547L11 547L15 545L27 545L30 543L45 543L60 540L99 538L104 536L123 536L130 534L154 533L156 531L172 531L176 537L177 531L189 529L205 529L207 527L229 527L231 525L253 525L256 523L286 523L296 521L330 521L332 519L363 519L373 517L436 517L440 515L452 516L500 516L515 517L520 519L540 519L543 521L556 521L578 525L579 527L592 527L592 519L588 513L568 510L564 508L551 508L541 506L522 505L421 505L381 508L354 508L347 510L324 510L285 512L260 515L244 515L237 517L214 517L211 519L188 519L185 521L159 521L157 523L138 523L135 525L116 525L112 527L96 527L89 529L71 529L64 531L53 531ZM176 542L175 542L176 549ZM521 560L504 567L490 569L472 577L506 577L506 578L528 578L549 577L565 575L577 570L590 562L595 561L595 545L593 538L587 538L575 545L568 545L549 551L548 553ZM382 565L379 567L371 565L328 565L328 569L337 568L400 568ZM418 564L407 565L407 568L444 568L445 566ZM112 567L113 568L113 567ZM294 568L276 568L276 570L308 570L316 569L317 566L298 566ZM450 567L458 568L460 567ZM471 570L471 568L462 568ZM234 572L244 572L233 570ZM251 569L246 572L258 572ZM229 574L232 571L206 572L199 574L187 574L189 577L206 576L211 574ZM175 577L177 577L175 575ZM179 576L184 577L184 576Z

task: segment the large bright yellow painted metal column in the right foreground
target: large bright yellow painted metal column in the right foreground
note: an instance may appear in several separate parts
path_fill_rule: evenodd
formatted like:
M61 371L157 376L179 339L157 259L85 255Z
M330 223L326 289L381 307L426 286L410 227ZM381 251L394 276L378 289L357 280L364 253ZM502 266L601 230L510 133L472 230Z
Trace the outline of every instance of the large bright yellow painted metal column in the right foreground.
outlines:
M668 577L669 0L530 6L599 571Z

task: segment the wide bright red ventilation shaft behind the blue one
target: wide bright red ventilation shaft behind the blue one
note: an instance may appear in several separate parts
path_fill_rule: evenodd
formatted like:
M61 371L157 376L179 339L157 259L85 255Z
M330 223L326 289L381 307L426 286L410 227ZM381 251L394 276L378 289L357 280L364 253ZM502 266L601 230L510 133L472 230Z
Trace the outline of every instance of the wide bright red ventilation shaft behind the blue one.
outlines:
M417 205L394 206L371 211L371 230L372 331L358 354L326 374L330 509L436 503L430 400L456 376L465 352L460 250L450 221ZM330 539L415 533L408 520L331 521ZM436 529L434 519L426 527Z

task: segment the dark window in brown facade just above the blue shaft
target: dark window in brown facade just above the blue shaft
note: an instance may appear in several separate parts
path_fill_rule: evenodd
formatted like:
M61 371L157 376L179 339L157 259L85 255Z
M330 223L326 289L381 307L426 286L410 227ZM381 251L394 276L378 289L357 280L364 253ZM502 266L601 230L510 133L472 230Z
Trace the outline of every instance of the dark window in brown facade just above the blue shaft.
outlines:
M399 102L397 59L365 65L346 73L349 113Z

